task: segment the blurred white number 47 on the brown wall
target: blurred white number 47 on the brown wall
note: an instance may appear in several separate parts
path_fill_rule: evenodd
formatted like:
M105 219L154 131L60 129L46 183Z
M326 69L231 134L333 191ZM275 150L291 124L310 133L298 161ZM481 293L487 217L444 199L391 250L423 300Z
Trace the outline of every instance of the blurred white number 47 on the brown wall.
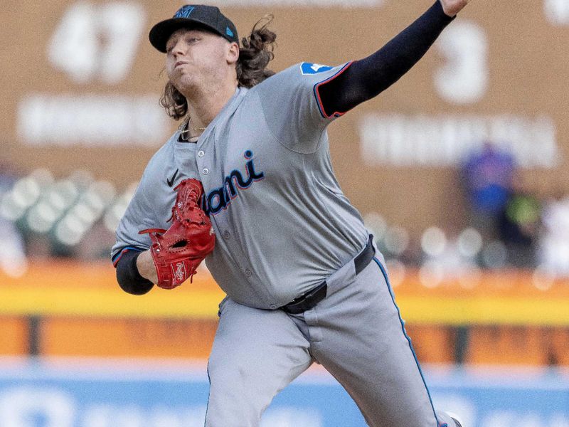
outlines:
M144 9L134 2L75 3L50 40L50 63L75 83L118 83L131 69L144 21Z

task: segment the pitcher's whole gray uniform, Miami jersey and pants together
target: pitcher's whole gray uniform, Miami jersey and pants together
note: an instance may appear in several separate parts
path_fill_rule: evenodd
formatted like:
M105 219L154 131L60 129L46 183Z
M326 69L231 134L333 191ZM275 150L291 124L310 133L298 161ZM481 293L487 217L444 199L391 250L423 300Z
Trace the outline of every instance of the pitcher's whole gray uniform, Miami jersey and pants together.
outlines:
M173 187L202 182L217 237L206 263L228 294L208 364L207 427L258 426L273 396L314 361L369 426L452 423L432 407L383 258L355 270L368 231L334 178L326 126L339 114L326 117L317 91L348 66L301 63L238 88L196 144L176 132L154 155L117 228L115 258L149 248L138 231L169 227ZM310 310L259 310L324 280L326 298Z

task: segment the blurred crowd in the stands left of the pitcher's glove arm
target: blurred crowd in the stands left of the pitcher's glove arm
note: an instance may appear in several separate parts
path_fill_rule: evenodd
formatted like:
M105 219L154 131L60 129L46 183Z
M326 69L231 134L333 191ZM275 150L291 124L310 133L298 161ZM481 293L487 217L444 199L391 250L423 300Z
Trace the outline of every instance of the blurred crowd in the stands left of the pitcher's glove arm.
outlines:
M55 179L0 163L0 267L18 277L41 258L110 260L115 228L136 183L117 189L84 170Z

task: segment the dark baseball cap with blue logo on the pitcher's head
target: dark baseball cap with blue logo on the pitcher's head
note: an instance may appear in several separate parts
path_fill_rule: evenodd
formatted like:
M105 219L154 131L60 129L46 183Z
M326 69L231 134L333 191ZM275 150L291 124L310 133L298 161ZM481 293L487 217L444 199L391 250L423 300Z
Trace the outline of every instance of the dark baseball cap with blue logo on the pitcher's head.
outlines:
M170 36L180 28L205 28L219 34L228 41L239 44L237 28L216 6L186 4L171 19L156 23L149 33L150 43L166 53L166 43Z

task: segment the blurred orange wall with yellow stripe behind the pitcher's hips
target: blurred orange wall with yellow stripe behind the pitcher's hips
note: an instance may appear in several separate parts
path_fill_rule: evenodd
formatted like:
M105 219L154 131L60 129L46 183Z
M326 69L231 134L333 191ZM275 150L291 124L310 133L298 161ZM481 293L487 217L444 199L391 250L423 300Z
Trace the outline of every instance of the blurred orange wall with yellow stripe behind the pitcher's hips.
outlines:
M569 367L569 283L533 279L486 271L432 287L391 273L422 362ZM35 262L0 283L0 355L206 359L224 297L205 268L142 296L120 290L110 263Z

